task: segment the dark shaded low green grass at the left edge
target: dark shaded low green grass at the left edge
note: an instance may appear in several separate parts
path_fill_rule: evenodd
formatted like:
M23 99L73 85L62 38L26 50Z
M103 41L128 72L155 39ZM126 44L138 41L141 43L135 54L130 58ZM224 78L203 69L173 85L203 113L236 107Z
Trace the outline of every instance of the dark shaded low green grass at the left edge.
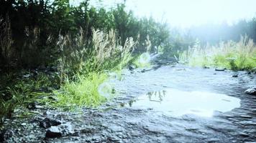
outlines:
M14 73L13 73L14 74ZM38 74L35 77L1 76L0 88L0 119L12 117L12 112L17 107L27 107L35 102L38 97L46 95L47 89L52 85L49 77L45 74ZM1 122L1 121L0 121Z

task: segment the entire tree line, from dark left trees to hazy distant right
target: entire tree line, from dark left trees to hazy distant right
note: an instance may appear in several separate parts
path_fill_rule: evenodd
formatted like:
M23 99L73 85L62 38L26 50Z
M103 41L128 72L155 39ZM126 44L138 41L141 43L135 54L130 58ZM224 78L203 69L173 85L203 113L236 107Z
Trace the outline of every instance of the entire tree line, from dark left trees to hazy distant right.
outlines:
M35 68L55 64L60 58L56 45L60 35L71 39L83 29L84 40L91 41L92 30L116 30L124 45L128 37L137 40L134 53L162 51L164 56L178 56L179 51L193 46L196 39L201 44L218 44L219 41L239 41L247 34L256 41L256 19L241 20L232 26L205 24L180 32L170 29L165 22L138 18L126 11L125 1L111 9L93 7L90 0L77 6L69 0L0 0L0 65L12 68ZM90 49L90 44L86 44Z

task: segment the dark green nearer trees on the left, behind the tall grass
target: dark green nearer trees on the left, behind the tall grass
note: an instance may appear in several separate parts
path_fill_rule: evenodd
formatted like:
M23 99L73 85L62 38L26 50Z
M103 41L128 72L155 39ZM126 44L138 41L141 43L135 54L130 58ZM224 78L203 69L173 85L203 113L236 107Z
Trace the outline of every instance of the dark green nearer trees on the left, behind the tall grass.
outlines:
M88 41L92 29L115 29L121 44L132 36L138 41L137 53L146 51L147 39L151 41L151 51L169 44L167 24L137 18L125 10L125 3L105 9L91 6L89 0L78 6L70 5L69 0L1 0L0 9L2 66L35 68L52 64L60 54L56 46L59 36L68 34L75 39L80 29Z

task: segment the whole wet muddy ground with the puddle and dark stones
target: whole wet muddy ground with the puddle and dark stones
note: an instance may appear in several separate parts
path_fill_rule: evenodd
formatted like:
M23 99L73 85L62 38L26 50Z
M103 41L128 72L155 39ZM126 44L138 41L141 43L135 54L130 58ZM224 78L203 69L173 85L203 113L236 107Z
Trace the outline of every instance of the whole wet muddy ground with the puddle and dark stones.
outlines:
M255 74L157 66L127 69L121 79L112 74L104 84L114 87L119 96L99 109L80 113L35 109L35 117L6 120L0 138L4 142L256 142L256 96L244 94L256 85Z

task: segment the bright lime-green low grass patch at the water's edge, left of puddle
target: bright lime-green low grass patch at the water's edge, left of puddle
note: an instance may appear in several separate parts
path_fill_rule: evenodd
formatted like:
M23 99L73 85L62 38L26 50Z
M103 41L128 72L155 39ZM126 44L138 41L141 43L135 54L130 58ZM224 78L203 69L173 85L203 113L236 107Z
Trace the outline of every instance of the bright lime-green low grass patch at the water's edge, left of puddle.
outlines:
M91 73L78 75L76 82L66 81L59 90L55 90L58 102L56 107L97 107L106 101L98 92L98 87L106 79L106 74Z

